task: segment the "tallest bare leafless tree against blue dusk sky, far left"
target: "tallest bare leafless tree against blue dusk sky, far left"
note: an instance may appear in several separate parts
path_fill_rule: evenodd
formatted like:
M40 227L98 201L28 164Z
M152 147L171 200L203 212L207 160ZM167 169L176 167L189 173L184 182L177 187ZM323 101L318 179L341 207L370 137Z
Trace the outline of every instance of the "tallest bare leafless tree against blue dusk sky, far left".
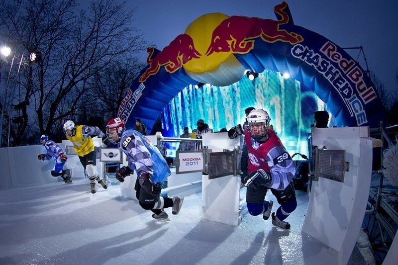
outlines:
M75 0L3 0L1 7L1 36L20 51L41 53L41 61L26 61L17 83L17 100L32 102L36 115L28 115L28 103L19 109L23 122L13 132L15 145L21 143L28 118L40 133L56 134L66 118L84 115L92 103L84 95L92 93L93 80L112 62L146 47L132 25L134 8L125 2L94 0L81 11Z

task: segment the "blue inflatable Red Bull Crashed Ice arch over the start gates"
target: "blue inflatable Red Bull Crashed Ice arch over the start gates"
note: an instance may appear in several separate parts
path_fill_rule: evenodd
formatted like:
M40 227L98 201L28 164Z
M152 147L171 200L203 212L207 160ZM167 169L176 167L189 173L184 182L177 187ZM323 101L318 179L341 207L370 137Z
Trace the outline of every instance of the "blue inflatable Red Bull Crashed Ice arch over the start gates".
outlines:
M178 92L199 83L228 86L247 70L289 73L327 104L339 127L378 127L384 108L365 71L327 38L293 23L288 4L277 20L209 13L162 51L148 48L147 66L120 103L127 127L140 117L152 129Z

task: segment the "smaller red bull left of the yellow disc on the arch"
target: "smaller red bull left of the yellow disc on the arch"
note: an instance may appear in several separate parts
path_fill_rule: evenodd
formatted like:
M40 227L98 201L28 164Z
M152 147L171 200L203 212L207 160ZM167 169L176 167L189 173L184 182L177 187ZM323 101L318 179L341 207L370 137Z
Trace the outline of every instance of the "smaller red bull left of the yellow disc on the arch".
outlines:
M153 59L154 48L148 48L149 53L147 64L149 68L139 78L139 82L145 82L150 76L156 75L161 66L164 66L166 71L174 73L184 64L195 58L200 58L201 54L195 49L194 41L188 34L180 34L169 46L165 47Z

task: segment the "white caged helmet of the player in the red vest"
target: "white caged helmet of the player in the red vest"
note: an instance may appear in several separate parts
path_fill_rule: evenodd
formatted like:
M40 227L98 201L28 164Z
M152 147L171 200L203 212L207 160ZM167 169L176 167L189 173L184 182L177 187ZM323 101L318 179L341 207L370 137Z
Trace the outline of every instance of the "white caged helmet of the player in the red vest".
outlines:
M270 115L264 109L259 108L250 111L249 115L247 115L247 122L254 140L258 141L267 136L270 121Z

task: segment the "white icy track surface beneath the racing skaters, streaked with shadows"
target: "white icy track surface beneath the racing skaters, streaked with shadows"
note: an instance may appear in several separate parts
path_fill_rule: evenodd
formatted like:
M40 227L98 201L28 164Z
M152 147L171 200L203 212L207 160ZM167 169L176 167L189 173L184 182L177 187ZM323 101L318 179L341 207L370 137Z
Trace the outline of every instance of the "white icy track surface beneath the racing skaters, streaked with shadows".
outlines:
M0 191L1 265L337 264L333 249L301 232L306 192L297 191L298 208L286 231L245 207L237 227L204 220L201 193L185 197L179 215L166 209L170 222L157 221L121 195L114 179L107 190L97 184L96 194L88 179L73 181ZM269 192L267 198L275 211L275 197ZM349 264L374 264L366 249L357 246Z

